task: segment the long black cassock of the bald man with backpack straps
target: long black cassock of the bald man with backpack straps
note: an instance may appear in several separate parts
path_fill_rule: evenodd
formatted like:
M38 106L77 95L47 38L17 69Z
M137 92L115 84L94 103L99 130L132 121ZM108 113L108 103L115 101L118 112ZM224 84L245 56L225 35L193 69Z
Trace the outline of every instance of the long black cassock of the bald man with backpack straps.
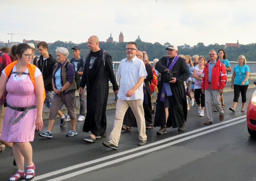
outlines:
M99 50L99 59L97 61L95 73L90 77L88 76L88 70L89 66L91 66L91 57L88 56L86 58L85 68L80 83L80 87L84 88L86 85L87 92L87 113L84 121L83 132L91 131L95 136L103 135L106 132L106 108L109 89L108 78L113 85L113 90L117 91L119 89L113 71L112 58L110 54L106 53L104 66L101 57L102 53L103 49Z

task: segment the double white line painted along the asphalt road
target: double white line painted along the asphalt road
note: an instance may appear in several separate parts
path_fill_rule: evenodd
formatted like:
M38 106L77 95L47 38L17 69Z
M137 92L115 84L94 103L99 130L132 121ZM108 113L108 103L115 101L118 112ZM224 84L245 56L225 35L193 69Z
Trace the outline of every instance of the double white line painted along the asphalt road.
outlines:
M98 168L102 168L102 167L105 167L105 166L108 166L108 165L112 165L112 164L121 162L123 160L134 158L134 157L137 157L137 156L140 156L140 155L143 155L143 154L148 154L149 152L156 151L156 150L159 150L159 149L162 149L162 148L165 148L165 147L169 147L173 144L180 143L182 141L186 141L186 140L192 139L194 137L201 136L203 134L207 134L207 133L216 131L216 130L221 129L221 128L225 128L225 127L228 127L228 126L232 126L232 125L241 123L243 121L246 121L246 119L242 119L242 120L236 121L234 123L230 123L230 122L241 119L241 118L244 118L244 117L246 117L246 116L237 117L237 118L230 119L230 120L227 120L227 121L223 121L223 122L211 125L211 126L206 126L206 127L203 127L203 128L199 128L199 129L196 129L194 131L190 131L190 132L187 132L187 133L184 133L184 134L179 134L179 135L176 135L176 136L172 136L172 137L169 137L169 138L164 139L164 140L160 140L160 141L157 141L157 142L154 142L154 143L147 144L143 147L134 148L134 149L131 149L131 150L120 152L118 154L113 154L113 155L106 156L106 157L103 157L103 158L91 160L89 162L85 162L85 163L77 164L77 165L70 166L70 167L67 167L67 168L63 168L61 170L57 170L57 171L54 171L54 172L46 173L46 174L43 174L43 175L38 175L33 180L45 179L47 177L51 177L51 176L54 176L54 175L57 175L57 174L70 172L71 170L75 170L75 169L80 168L80 167L84 167L84 166L87 166L87 165L90 165L90 164L95 164L97 162L102 162L102 161L107 160L107 159L111 159L111 158L118 157L118 156L121 156L121 155L129 154L129 153L134 152L134 151L142 150L142 149L145 149L145 148L148 148L148 147L155 146L157 144L161 144L161 143L164 143L164 142L168 142L168 141L177 139L179 137L183 137L183 136L186 136L186 135L189 135L189 134L193 134L193 133L196 133L196 132L203 131L205 129L210 129L210 128L219 126L219 127L210 129L208 131L204 131L204 132L201 132L201 133L198 133L198 134L194 134L194 135L191 135L191 136L188 136L188 137L184 137L182 139L179 139L179 140L176 140L176 141L173 141L173 142L170 142L170 143L166 143L166 144L160 145L158 147L154 147L154 148L151 148L151 149L148 149L148 150L144 150L144 151L138 152L136 154L128 155L126 157L122 157L122 158L119 158L119 159L111 160L111 161L103 163L103 164L99 164L99 165L96 165L96 166L85 168L85 169L77 171L77 172L73 172L73 173L69 173L67 175L59 176L57 178L54 178L54 179L51 179L51 180L48 180L48 181L60 181L60 180L68 179L68 178L71 178L71 177L79 175L79 174L83 174L83 173L86 173L86 172L90 172L92 170L96 170ZM227 123L229 123L229 124L227 124ZM223 125L223 124L226 124L226 125ZM223 126L220 126L220 125L223 125Z

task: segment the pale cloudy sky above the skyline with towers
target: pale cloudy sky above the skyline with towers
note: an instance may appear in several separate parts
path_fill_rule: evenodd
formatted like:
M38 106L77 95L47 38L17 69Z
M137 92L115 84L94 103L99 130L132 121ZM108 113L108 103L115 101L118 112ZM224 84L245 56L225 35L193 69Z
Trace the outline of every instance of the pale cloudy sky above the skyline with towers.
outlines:
M0 2L0 41L256 43L255 0L8 0ZM27 35L26 35L27 34Z

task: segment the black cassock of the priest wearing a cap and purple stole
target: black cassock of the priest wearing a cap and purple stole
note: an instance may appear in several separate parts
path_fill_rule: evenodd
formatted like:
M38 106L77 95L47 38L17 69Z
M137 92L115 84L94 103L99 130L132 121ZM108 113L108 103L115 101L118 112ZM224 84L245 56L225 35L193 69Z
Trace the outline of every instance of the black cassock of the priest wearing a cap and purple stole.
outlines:
M173 61L174 57L170 58L169 65ZM162 57L156 63L155 69L159 73L163 73L167 69L167 57ZM163 79L160 81L158 88L159 93L157 94L157 108L154 120L154 127L165 126L166 127L179 127L184 121L187 121L187 97L186 90L183 82L189 77L188 66L186 65L186 60L179 57L177 62L173 66L173 77L176 78L174 84L169 83L171 86L172 96L168 96L169 100L169 117L166 123L165 107L164 102L160 101L163 88ZM167 99L167 97L165 98Z

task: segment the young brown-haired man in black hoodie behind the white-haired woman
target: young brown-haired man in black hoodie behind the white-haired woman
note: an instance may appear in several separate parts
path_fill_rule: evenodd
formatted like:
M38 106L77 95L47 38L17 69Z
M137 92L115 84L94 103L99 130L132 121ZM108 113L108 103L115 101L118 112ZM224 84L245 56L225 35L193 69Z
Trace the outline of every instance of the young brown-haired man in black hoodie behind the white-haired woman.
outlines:
M52 73L53 66L57 63L57 60L52 55L48 54L48 44L45 41L40 41L37 44L40 58L37 63L37 67L42 72L45 88L45 101L44 104L47 108L51 109L52 97L54 95L52 88ZM60 116L60 127L63 127L67 122L67 116L62 114L59 110L58 115Z

